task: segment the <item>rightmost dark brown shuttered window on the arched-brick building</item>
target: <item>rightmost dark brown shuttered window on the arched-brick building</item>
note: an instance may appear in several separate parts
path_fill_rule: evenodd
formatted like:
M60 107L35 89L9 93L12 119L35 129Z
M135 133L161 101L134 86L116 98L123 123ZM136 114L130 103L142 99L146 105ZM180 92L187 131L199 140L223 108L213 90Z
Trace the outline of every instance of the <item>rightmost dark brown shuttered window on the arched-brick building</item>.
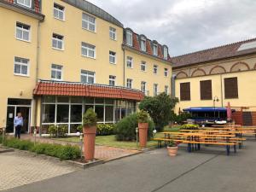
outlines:
M238 98L237 78L224 79L224 94L225 99Z

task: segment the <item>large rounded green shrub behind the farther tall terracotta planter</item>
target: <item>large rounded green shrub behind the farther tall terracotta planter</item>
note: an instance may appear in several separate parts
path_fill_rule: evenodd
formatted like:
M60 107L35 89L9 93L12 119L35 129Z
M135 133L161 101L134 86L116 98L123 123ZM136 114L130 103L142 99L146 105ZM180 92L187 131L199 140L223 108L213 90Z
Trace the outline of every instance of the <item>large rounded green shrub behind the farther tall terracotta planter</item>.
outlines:
M137 113L133 113L121 119L116 125L116 139L118 141L135 141L138 124ZM148 140L153 137L154 122L148 119Z

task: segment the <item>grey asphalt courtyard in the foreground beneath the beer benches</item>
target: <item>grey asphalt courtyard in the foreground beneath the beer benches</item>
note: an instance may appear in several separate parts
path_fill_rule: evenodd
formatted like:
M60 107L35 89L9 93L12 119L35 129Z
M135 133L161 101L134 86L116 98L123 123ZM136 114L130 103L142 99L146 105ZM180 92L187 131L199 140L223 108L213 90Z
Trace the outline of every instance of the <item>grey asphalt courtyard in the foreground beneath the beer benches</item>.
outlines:
M201 152L180 148L170 158L166 148L70 172L9 192L255 192L256 141L237 154L202 146Z

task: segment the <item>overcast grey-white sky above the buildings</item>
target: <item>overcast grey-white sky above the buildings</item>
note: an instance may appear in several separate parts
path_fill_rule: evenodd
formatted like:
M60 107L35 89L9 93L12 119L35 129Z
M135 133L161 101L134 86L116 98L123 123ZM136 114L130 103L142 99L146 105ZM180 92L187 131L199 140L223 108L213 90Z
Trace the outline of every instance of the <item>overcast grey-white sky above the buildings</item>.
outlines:
M256 37L255 0L89 0L172 56Z

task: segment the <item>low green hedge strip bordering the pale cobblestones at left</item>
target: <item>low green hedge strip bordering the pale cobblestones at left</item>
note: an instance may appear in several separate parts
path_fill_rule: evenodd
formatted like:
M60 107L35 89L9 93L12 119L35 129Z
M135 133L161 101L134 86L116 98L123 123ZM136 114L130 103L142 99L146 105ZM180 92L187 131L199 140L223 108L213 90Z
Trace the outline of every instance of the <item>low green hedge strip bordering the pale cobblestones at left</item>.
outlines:
M46 154L60 158L61 160L76 160L79 159L81 155L80 148L72 145L50 143L36 143L36 145L34 145L31 141L19 140L16 138L7 138L3 145L9 148L28 150L37 154Z

